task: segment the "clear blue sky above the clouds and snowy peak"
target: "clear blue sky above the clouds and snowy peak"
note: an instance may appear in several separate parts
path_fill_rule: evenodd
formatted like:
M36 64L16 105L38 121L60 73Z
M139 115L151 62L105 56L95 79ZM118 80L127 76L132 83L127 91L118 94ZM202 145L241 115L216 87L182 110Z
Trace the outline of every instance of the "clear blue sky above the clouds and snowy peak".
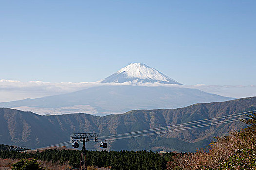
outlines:
M0 79L91 82L141 62L256 85L255 0L0 0Z

